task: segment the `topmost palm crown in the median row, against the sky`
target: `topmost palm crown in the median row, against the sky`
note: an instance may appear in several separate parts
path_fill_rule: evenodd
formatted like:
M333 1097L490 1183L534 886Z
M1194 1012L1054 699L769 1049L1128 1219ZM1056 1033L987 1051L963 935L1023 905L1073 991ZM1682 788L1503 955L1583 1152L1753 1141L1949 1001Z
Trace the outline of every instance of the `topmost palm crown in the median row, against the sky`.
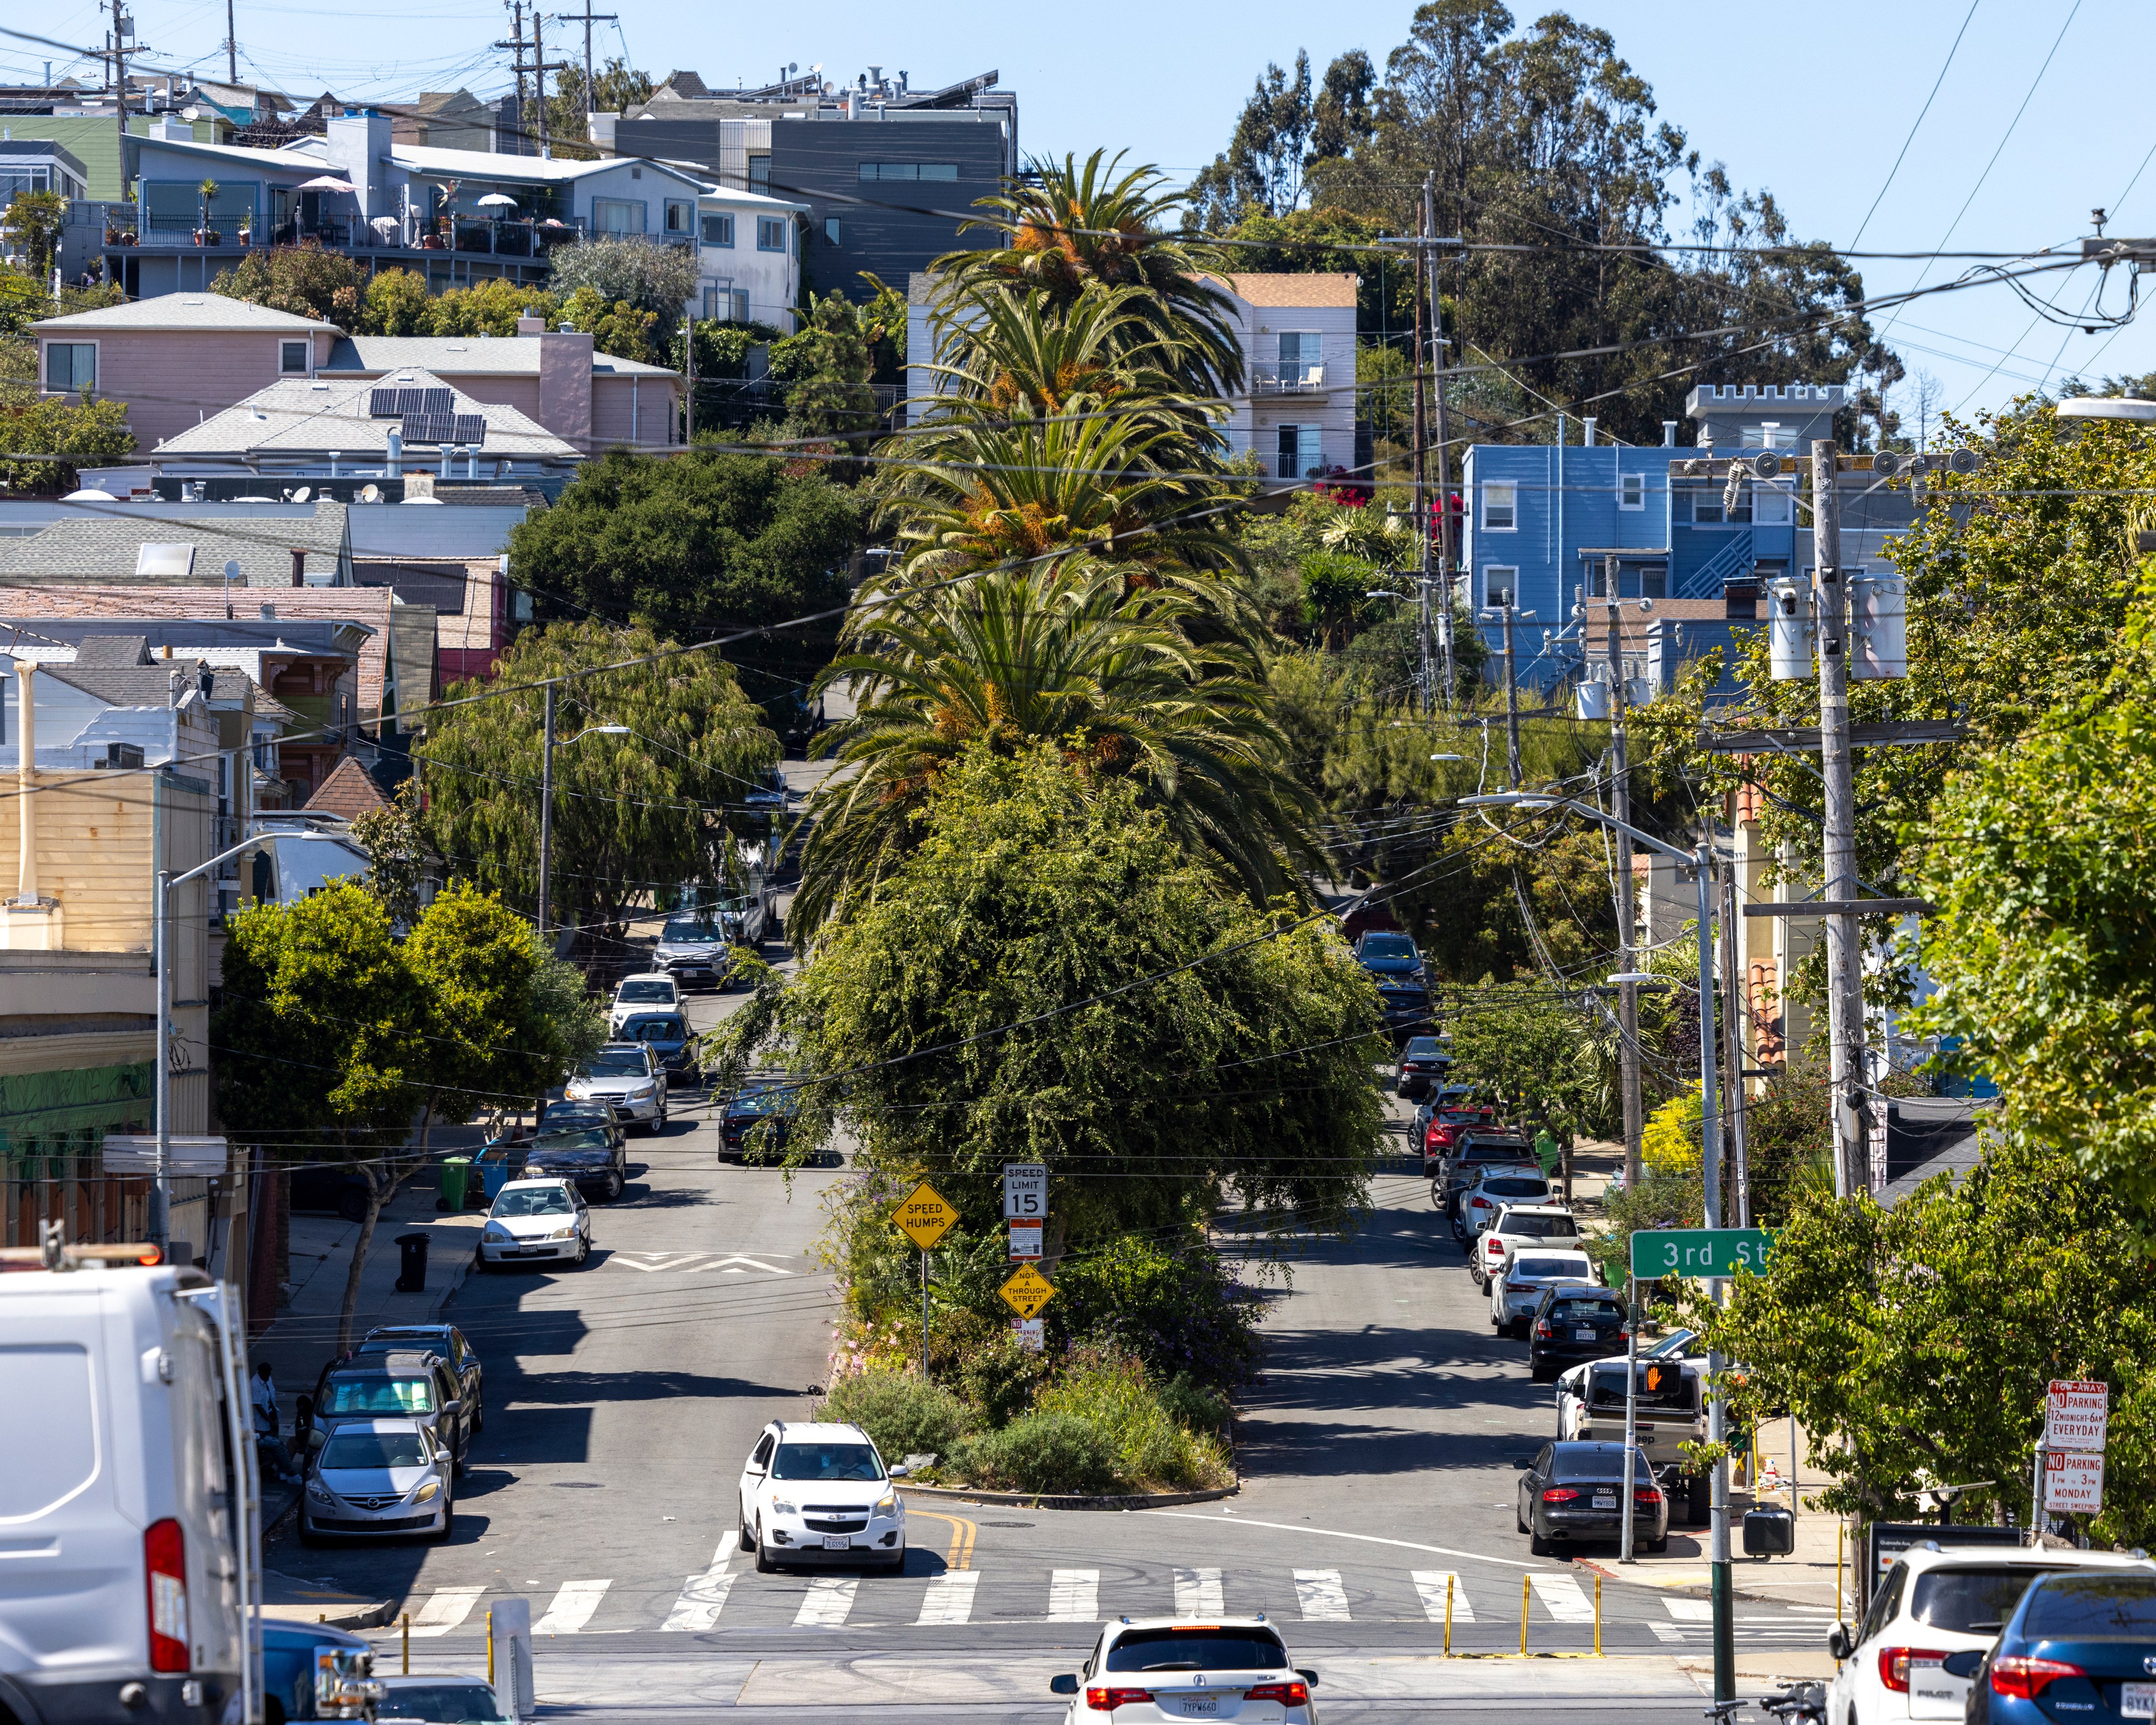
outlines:
M1175 233L1184 205L1162 192L1153 166L1119 172L1123 155L1104 164L1093 151L1084 166L1074 155L1033 162L1031 179L977 198L990 211L966 229L996 229L1009 244L994 250L946 252L931 263L942 280L940 336L966 323L998 287L1037 289L1056 310L1069 310L1087 289L1145 289L1143 334L1151 364L1169 371L1197 399L1218 399L1242 388L1242 343L1235 339L1235 302L1210 278L1218 259Z

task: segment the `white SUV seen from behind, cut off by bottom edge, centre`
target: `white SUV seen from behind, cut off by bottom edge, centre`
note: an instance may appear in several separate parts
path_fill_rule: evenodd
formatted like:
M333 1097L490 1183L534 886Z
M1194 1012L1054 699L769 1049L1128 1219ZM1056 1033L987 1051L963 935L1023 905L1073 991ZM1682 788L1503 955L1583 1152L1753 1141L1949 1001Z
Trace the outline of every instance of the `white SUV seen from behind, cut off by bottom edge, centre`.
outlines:
M1190 1624L1177 1617L1123 1617L1093 1643L1082 1671L1052 1678L1067 1695L1065 1725L1110 1716L1233 1719L1238 1725L1311 1725L1315 1671L1287 1662L1281 1632L1263 1617Z

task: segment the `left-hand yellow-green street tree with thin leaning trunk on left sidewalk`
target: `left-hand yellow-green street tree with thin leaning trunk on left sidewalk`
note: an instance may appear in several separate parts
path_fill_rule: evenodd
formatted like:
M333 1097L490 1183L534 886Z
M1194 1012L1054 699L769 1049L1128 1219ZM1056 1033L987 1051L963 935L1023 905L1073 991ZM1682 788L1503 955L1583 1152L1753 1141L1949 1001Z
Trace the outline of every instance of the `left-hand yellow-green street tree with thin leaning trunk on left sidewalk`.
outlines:
M367 1182L336 1350L351 1346L375 1218L410 1173L399 1156L427 1087L418 985L371 893L332 880L298 903L237 910L211 1037L218 1113L291 1162L328 1158ZM319 1147L319 1149L317 1149Z

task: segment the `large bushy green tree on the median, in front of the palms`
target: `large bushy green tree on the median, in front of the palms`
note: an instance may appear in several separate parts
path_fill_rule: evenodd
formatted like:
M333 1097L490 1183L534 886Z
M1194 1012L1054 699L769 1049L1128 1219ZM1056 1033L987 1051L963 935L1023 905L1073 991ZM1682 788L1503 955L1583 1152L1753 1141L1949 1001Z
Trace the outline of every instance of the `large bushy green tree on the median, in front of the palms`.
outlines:
M1134 781L981 742L888 891L759 985L718 1059L808 1074L791 1162L845 1119L865 1179L843 1248L875 1281L912 1257L884 1188L934 1175L964 1255L1000 1236L1009 1160L1048 1164L1054 1253L1166 1242L1229 1201L1263 1231L1345 1231L1378 1143L1373 1024L1330 923L1225 893Z

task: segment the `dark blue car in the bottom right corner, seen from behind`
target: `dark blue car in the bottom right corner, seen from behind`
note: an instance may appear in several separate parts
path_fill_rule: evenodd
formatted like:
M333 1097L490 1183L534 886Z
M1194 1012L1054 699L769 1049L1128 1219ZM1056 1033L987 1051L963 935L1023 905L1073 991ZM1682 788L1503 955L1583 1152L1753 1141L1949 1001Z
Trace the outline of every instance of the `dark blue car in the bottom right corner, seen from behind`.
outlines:
M1988 1652L1947 1654L1973 1678L1968 1725L2156 1716L2156 1568L2081 1570L2029 1585Z

